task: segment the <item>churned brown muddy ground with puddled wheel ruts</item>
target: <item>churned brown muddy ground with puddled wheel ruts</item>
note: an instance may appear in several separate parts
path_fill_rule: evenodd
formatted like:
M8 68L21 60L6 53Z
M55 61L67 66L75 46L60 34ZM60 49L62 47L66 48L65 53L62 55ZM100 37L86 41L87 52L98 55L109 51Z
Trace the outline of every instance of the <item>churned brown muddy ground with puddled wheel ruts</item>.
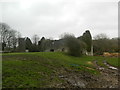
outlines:
M103 62L106 64L105 62ZM56 88L119 88L118 68L104 68L93 62L100 75L93 75L87 72L71 71L65 68L59 70L58 77L64 80L64 83L51 85ZM108 64L108 63L107 63ZM110 65L109 65L110 66ZM119 84L119 85L118 85Z

